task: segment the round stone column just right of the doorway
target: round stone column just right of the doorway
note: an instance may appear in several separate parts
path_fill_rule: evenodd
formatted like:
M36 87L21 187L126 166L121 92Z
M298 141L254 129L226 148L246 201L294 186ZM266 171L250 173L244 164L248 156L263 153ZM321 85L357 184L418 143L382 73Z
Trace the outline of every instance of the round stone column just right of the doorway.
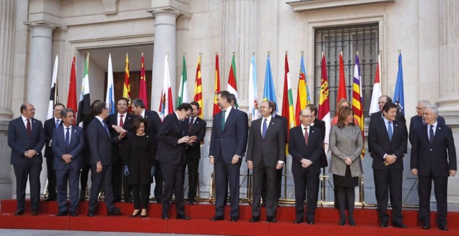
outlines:
M153 46L153 72L152 85L156 89L152 90L152 110L159 108L159 96L161 96L161 87L164 78L164 56L166 52L169 55L169 73L170 86L172 87L172 100L175 104L177 92L176 87L176 21L180 15L175 10L153 10L154 17L154 46ZM174 109L175 110L175 109Z

